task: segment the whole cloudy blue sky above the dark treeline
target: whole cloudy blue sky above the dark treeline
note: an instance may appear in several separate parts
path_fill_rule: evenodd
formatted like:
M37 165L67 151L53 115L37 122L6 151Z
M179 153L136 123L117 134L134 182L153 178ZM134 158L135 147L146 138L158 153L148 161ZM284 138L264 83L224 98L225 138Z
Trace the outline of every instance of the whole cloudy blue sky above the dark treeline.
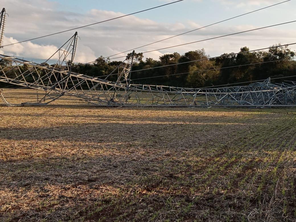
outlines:
M0 7L5 7L9 15L3 45L126 15L172 1L1 0ZM281 1L284 0L184 0L151 11L78 29L80 40L75 62L85 63L100 56L108 57ZM137 49L136 52L145 52L293 21L296 17L295 8L296 0L291 0L278 6ZM214 57L223 53L239 52L243 46L248 46L250 50L253 50L278 43L294 43L296 42L295 24L296 22L158 50L145 54L145 57L158 59L166 53L179 52L183 54L202 48L205 49L207 54ZM0 53L14 55L29 61L43 62L62 46L74 32L75 30L6 46L0 49ZM296 46L291 46L291 48L295 50Z

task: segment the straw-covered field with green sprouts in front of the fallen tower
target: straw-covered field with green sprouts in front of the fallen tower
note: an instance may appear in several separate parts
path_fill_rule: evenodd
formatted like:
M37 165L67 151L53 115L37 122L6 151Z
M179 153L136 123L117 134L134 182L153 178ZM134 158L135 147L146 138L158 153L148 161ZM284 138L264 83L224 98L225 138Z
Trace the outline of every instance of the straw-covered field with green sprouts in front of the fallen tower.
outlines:
M296 220L296 109L0 112L0 221Z

